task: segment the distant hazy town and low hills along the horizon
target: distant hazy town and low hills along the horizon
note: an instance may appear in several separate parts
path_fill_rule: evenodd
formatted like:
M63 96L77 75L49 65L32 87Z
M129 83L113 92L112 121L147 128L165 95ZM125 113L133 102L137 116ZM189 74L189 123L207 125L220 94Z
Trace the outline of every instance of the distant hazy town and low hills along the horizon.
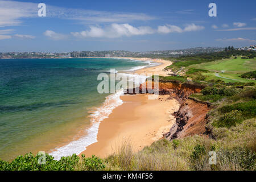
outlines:
M198 53L210 53L223 51L227 48L220 47L196 47L167 51L73 51L63 53L53 52L0 52L0 59L46 59L46 58L79 58L79 57L179 57L181 55L194 55ZM256 45L233 48L238 50L256 51Z

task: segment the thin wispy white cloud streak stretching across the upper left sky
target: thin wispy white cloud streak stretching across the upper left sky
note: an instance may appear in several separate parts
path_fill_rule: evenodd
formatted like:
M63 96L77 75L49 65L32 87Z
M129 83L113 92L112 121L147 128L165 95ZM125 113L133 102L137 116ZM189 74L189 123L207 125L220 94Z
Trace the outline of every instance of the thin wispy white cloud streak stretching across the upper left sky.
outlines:
M46 16L49 18L72 19L81 23L114 23L156 19L154 16L143 13L70 9L48 4L46 9ZM0 26L18 26L24 18L38 18L38 3L0 0Z

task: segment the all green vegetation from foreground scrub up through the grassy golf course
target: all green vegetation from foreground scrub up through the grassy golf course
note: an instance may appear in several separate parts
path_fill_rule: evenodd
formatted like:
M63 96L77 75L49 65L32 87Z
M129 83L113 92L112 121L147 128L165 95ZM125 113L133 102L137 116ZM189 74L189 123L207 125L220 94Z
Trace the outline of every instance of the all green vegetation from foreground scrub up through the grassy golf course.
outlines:
M230 51L229 51L230 50ZM236 59L230 59L231 56ZM161 139L133 152L123 143L119 151L105 159L63 157L59 161L46 154L46 164L38 164L40 155L18 156L12 162L0 160L0 170L256 170L256 88L255 53L235 51L184 56L170 66L184 68L184 76L159 76L162 82L202 86L201 93L190 97L211 102L207 113L207 137L194 135L172 141ZM221 59L221 60L220 60ZM223 59L223 60L222 60ZM218 73L225 68L225 73ZM248 72L252 71L252 72ZM241 76L241 77L240 77ZM188 80L187 77L193 78ZM154 78L154 77L153 77ZM236 88L238 86L238 88ZM208 103L209 104L209 103ZM209 152L217 154L217 164L209 164Z

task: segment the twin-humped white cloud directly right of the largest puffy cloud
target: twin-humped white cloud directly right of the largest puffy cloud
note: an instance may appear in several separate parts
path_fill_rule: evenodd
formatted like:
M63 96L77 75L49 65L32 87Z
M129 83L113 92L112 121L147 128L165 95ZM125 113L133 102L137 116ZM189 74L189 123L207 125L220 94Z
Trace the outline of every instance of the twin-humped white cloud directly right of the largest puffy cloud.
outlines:
M203 29L204 29L204 26L197 26L195 23L188 24L184 29L178 26L170 25L170 24L166 24L164 26L158 26L158 32L161 34L169 34L172 32L177 32L177 33L191 32L191 31L199 31Z

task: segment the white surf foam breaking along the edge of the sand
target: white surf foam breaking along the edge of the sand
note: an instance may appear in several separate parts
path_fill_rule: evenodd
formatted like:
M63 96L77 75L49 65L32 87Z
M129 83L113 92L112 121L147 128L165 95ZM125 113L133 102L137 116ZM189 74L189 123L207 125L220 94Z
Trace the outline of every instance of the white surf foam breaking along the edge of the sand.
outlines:
M129 59L129 60L133 62L147 63L150 66L155 65L155 63L152 63L149 60L148 61L134 60L134 59ZM143 68L146 68L148 65L133 67L128 71L131 72L131 71L136 71L138 69L143 69ZM115 71L115 73L118 73L118 71ZM143 75L136 75L131 73L118 73L118 74L126 76L128 78L127 79L128 81L132 79L134 83L137 85L142 84L147 79L147 76L143 76ZM109 114L112 113L115 107L118 107L119 105L123 104L123 101L120 98L120 96L122 95L123 95L123 90L119 90L115 94L110 94L109 96L107 96L104 104L101 107L98 107L97 110L94 111L92 114L90 114L90 117L91 117L90 122L92 126L86 129L87 134L77 140L73 140L72 142L68 143L65 146L55 148L54 150L49 152L49 155L52 155L55 160L60 160L62 156L71 156L72 154L78 155L82 151L85 151L86 147L88 147L90 144L96 143L98 127L100 126L100 122L103 121L105 118L108 118Z

